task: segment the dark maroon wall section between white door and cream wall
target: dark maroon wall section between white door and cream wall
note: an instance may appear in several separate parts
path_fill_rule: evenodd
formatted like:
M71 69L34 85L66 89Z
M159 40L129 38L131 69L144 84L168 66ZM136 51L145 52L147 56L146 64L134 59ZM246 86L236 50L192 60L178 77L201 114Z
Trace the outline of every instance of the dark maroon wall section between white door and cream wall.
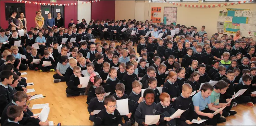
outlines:
M115 19L115 1L101 0L92 3L91 19L97 20L114 20Z

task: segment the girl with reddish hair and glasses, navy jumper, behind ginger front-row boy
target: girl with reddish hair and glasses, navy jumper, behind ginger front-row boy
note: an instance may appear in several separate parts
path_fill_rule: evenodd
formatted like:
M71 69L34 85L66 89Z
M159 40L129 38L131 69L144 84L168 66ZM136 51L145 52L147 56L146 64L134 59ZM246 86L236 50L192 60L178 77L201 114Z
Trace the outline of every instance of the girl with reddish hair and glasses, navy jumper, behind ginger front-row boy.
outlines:
M163 85L163 92L168 93L171 96L171 102L173 104L175 99L180 96L180 88L177 81L177 73L174 71L169 72L167 78L166 78L166 82Z

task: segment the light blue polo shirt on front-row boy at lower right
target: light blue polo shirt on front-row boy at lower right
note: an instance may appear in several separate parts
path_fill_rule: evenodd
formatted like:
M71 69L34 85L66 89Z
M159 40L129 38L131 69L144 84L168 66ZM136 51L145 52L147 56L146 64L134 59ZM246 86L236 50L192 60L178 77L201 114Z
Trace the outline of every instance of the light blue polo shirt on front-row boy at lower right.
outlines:
M211 104L211 98L206 97L205 99L203 98L201 91L198 92L197 94L195 94L192 98L193 100L193 104L194 106L198 106L199 107L199 111L202 111L205 109L205 107L207 106L207 104Z

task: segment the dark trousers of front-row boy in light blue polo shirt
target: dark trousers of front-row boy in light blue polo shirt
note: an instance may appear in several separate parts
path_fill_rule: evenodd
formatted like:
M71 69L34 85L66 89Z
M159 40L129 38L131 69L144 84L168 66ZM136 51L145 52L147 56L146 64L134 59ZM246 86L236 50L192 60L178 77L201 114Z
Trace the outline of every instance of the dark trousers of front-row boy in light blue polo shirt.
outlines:
M211 111L209 108L205 108L204 110L202 110L201 112L203 113L214 113L214 111ZM205 121L206 124L210 124L212 126L216 126L217 125L217 120L220 118L220 113L216 114L213 116L213 118L209 118L207 116L201 116L201 115L198 115L199 118L201 119L207 119Z

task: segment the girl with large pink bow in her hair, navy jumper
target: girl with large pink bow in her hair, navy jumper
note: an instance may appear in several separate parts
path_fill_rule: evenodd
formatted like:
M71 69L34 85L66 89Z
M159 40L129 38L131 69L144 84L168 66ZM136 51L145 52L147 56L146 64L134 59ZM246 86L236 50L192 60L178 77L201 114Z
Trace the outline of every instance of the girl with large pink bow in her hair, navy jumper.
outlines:
M88 85L85 90L85 94L87 94L87 104L90 103L91 99L96 97L95 89L96 87L99 87L102 83L102 79L100 75L96 75L94 72L90 75L90 80L88 82Z

